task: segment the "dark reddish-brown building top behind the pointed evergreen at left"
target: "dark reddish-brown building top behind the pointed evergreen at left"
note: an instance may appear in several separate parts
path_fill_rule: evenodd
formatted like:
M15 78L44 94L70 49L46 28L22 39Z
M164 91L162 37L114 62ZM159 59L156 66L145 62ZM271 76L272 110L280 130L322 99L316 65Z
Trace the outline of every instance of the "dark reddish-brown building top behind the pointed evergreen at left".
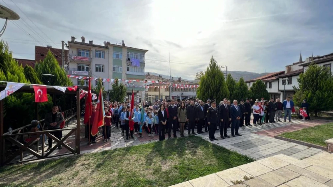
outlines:
M39 60L44 60L48 51L51 51L53 55L56 57L59 65L61 66L61 49L53 48L53 47L43 47L43 46L35 46L35 61L39 62ZM68 59L68 50L64 50L65 59Z

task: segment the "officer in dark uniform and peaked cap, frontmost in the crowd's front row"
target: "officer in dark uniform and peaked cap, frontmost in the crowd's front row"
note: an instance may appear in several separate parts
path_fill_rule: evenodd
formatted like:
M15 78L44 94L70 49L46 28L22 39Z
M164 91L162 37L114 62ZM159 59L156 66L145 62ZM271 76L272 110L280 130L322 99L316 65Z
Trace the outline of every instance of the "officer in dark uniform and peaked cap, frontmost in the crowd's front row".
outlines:
M218 124L218 111L216 109L216 102L212 100L211 107L207 109L207 124L209 126L209 140L217 140L214 136L216 125Z

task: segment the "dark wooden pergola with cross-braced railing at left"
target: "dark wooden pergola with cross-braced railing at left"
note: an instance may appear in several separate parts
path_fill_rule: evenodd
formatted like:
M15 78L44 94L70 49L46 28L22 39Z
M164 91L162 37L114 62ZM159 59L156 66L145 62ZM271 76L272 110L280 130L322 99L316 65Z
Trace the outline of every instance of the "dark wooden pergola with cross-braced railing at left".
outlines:
M0 91L4 90L6 85L0 85ZM29 125L20 127L18 129L12 130L12 134L9 134L8 132L4 133L4 100L0 101L0 166L7 165L7 164L13 164L13 163L21 163L21 162L27 162L27 161L32 161L32 160L38 160L38 159L44 159L44 158L50 158L50 157L55 157L55 156L62 156L62 155L67 155L67 154L80 154L80 89L88 90L87 86L78 86L78 89L76 91L69 91L66 89L65 93L61 92L60 90L55 89L53 86L46 86L47 87L47 94L53 95L53 100L55 100L56 95L76 95L76 113L74 108L65 111L68 112L67 116L65 115L65 121L71 120L72 118L75 118L76 116L76 121L77 125L75 128L64 128L64 129L59 129L59 130L44 130L44 125L42 126L42 131L38 132L24 132L24 129ZM17 90L15 93L34 93L34 88L32 85L25 85L21 87L19 90ZM10 96L9 96L10 97ZM38 117L38 103L35 104L35 115ZM10 110L10 109L7 109ZM50 111L51 112L51 111ZM37 118L36 118L37 119ZM42 122L43 120L40 120ZM23 125L23 124L22 124ZM59 140L50 132L55 132L55 131L70 131L66 136L61 138ZM64 141L71 135L75 133L75 147L72 148ZM38 139L42 135L48 136L48 138L51 138L52 140L56 141L57 144L52 147L48 152L44 152L44 138L42 138L42 150L41 153L38 150ZM23 141L24 136L29 136L31 137L30 140L28 141ZM33 150L31 148L31 145L35 143L37 140L37 150ZM15 145L18 147L17 150L14 150L13 154L7 155L6 156L6 142L10 143L12 145ZM8 145L8 144L7 144ZM51 155L51 153L58 147L58 145L62 145L64 148L69 150L69 153L65 154L57 154L57 155ZM23 160L23 152L26 151L32 155L34 155L37 158L33 159L24 159ZM15 161L15 158L21 154L21 158L19 161Z

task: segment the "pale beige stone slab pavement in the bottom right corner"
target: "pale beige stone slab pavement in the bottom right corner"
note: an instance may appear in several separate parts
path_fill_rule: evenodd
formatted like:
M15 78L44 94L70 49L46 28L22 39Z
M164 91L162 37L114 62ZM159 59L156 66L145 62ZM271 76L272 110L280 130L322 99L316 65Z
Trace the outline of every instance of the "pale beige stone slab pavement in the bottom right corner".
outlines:
M172 187L333 187L333 154L298 160L278 154Z

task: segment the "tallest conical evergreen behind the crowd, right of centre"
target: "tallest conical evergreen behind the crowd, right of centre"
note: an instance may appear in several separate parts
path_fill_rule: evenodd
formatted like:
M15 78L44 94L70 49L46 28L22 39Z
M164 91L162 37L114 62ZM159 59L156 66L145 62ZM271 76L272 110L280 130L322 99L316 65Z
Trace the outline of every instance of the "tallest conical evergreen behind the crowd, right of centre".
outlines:
M210 59L204 76L199 81L199 87L196 91L197 98L202 101L207 99L216 99L216 103L223 98L229 97L229 90L224 80L224 74L220 71L213 56Z

